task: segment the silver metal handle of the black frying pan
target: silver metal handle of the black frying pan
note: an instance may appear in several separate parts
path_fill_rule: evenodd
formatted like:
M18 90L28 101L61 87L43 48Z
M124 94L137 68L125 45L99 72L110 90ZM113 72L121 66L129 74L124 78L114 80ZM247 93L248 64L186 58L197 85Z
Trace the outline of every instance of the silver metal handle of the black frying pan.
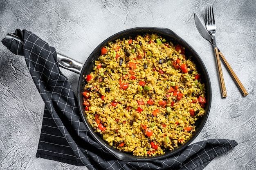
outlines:
M16 36L15 34L8 33L4 40L6 39L14 39L19 41L22 45L24 45L24 42L20 39L20 37ZM77 74L81 73L81 69L83 68L83 64L79 63L76 60L73 60L72 58L69 58L68 56L65 56L64 54L57 52L57 58L58 58L58 64L60 67L68 69L72 72L75 72Z

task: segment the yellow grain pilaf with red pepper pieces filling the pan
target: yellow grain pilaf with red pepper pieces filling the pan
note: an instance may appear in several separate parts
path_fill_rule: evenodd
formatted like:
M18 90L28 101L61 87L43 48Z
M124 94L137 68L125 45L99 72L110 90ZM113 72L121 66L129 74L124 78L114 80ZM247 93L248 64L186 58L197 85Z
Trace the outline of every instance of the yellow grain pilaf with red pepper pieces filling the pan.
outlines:
M184 143L204 114L205 88L184 47L157 34L110 42L85 78L88 122L114 148L164 154Z

